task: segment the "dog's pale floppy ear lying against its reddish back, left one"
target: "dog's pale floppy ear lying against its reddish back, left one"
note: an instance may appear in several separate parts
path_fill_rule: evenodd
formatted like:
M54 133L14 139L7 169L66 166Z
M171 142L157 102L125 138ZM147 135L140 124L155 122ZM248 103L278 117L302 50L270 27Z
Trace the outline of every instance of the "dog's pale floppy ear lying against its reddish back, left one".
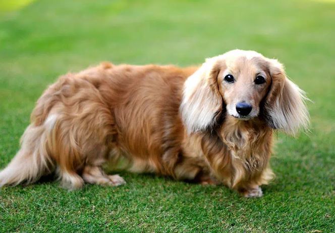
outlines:
M216 59L209 58L186 80L180 111L188 133L208 129L220 116L223 102L217 84L219 71Z

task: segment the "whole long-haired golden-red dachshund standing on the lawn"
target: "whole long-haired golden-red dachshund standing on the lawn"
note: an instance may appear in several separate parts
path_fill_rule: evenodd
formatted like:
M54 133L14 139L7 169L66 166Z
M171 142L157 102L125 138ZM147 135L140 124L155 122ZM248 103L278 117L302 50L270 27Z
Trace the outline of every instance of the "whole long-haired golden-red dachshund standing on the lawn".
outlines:
M51 173L69 189L125 184L108 165L260 197L273 134L308 129L305 100L280 62L255 51L187 68L104 62L46 89L0 186Z

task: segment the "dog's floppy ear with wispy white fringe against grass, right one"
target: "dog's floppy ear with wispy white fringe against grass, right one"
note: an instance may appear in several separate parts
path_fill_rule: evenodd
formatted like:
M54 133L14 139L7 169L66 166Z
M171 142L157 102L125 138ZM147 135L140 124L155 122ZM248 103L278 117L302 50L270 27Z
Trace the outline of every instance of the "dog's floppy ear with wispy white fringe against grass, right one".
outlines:
M265 117L270 127L295 135L300 128L307 129L309 114L305 92L288 79L283 65L269 59L271 86L265 99Z

